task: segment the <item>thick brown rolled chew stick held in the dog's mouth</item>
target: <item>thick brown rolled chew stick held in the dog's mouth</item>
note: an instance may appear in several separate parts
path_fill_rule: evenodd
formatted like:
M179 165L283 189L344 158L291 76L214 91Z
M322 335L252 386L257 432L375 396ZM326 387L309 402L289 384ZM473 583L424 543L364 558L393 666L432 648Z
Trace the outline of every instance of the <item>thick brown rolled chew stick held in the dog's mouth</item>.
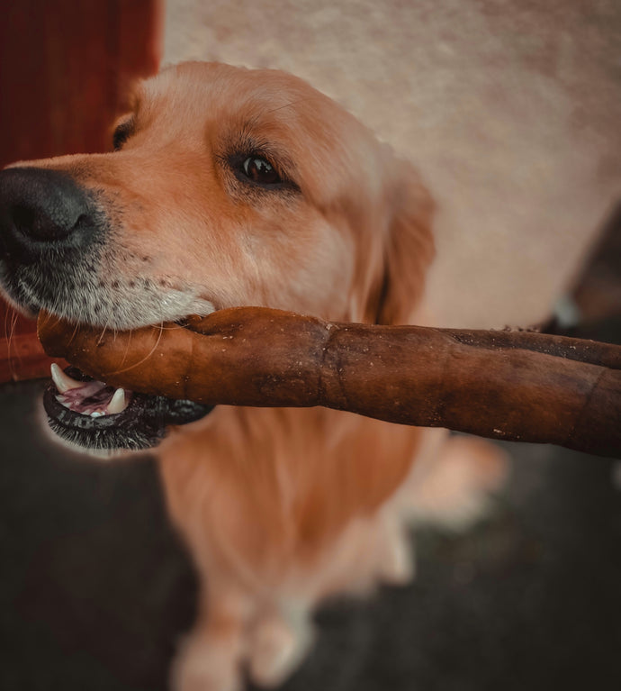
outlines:
M532 332L327 323L258 307L134 332L40 314L46 352L205 404L324 405L392 423L621 455L621 347Z

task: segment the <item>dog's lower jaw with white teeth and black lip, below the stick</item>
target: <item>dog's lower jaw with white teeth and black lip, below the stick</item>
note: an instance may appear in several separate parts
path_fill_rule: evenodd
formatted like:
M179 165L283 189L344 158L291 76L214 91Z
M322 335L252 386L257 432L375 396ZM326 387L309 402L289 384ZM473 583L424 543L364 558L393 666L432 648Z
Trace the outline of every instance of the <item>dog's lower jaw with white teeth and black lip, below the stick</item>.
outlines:
M98 452L157 446L170 425L193 423L212 406L114 388L75 367L52 365L43 394L49 427L71 445Z

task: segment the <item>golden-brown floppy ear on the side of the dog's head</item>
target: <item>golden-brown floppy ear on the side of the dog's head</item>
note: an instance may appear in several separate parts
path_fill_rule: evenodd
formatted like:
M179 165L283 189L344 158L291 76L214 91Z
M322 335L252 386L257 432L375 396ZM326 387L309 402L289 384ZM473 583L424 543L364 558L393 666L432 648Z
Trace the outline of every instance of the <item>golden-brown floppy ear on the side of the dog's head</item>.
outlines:
M434 203L410 163L392 159L391 172L386 192L389 221L383 245L383 277L374 301L375 322L411 323L435 253L431 232Z

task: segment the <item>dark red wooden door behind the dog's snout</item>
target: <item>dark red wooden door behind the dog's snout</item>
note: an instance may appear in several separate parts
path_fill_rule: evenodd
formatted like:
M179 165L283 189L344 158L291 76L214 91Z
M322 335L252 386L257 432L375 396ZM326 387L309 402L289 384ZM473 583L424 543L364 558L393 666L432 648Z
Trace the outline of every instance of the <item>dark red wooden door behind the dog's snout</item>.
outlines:
M0 168L111 148L127 86L157 71L162 0L0 0ZM0 382L41 377L34 322L0 299Z

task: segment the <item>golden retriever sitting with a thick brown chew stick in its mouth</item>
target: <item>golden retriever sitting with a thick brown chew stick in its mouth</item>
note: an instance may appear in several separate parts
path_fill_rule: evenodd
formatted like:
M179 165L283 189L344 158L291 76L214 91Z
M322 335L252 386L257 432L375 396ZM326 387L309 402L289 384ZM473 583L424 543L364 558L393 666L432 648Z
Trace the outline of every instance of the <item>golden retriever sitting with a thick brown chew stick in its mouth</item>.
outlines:
M302 80L166 68L136 86L113 149L0 174L0 281L23 312L103 330L238 305L429 323L428 191ZM72 411L73 441L106 439L101 421L122 418L118 401L106 405L99 417ZM491 445L441 430L322 408L195 417L157 449L169 514L201 578L177 691L233 691L245 670L278 685L309 650L320 602L409 581L412 518L464 522L503 476ZM120 428L113 445L130 447L129 435Z

